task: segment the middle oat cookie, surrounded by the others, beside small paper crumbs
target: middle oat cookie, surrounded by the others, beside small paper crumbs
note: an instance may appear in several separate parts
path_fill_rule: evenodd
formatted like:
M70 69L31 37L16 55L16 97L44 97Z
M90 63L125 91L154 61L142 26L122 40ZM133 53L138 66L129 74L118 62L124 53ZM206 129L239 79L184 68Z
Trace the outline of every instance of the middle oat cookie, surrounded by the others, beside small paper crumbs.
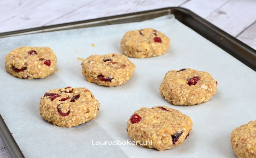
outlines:
M126 83L135 65L123 54L91 55L81 63L82 74L91 83L108 87Z

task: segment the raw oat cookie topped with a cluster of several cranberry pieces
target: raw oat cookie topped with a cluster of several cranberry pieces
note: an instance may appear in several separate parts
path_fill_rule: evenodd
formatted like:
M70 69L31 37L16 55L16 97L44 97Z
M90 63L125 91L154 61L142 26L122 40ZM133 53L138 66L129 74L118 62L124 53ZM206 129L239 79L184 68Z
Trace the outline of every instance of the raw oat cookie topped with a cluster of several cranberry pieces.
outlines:
M47 91L39 105L40 115L60 127L77 126L94 119L100 104L87 88L66 87Z

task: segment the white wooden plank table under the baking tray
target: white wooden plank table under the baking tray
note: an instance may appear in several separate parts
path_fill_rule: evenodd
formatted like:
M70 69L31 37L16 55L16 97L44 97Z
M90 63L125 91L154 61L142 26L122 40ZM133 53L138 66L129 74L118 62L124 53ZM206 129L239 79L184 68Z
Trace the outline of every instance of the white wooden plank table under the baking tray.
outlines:
M180 6L256 49L256 0L0 0L0 32ZM0 157L10 155L0 138Z

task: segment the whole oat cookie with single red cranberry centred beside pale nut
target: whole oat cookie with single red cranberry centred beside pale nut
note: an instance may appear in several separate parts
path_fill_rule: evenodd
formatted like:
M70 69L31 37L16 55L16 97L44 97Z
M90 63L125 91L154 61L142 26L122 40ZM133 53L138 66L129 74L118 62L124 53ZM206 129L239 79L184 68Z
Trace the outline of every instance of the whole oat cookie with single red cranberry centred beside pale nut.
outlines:
M173 105L190 106L211 99L217 91L217 84L208 72L184 68L167 72L160 92Z

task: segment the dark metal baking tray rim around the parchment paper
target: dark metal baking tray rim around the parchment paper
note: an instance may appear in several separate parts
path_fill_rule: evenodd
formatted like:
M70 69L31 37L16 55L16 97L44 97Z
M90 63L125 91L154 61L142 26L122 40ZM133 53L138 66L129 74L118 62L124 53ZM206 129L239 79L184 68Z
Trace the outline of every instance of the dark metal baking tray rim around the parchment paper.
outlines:
M189 11L188 9L180 7L162 8L145 12L130 13L106 18L98 18L93 20L84 20L59 25L0 33L0 38L41 32L67 30L74 28L86 28L111 24L138 22L154 19L169 14L173 14L177 20L179 20L189 28L192 28L194 31L204 36L206 39L216 44L221 49L228 52L236 59L240 60L245 65L256 71L256 51L254 49L237 40L233 36L230 36L223 30L217 28L216 26L202 19L201 17ZM2 118L0 120L0 136L2 137L6 145L6 148L8 149L12 157L24 157L17 143L12 137L12 134L5 125L4 119Z

